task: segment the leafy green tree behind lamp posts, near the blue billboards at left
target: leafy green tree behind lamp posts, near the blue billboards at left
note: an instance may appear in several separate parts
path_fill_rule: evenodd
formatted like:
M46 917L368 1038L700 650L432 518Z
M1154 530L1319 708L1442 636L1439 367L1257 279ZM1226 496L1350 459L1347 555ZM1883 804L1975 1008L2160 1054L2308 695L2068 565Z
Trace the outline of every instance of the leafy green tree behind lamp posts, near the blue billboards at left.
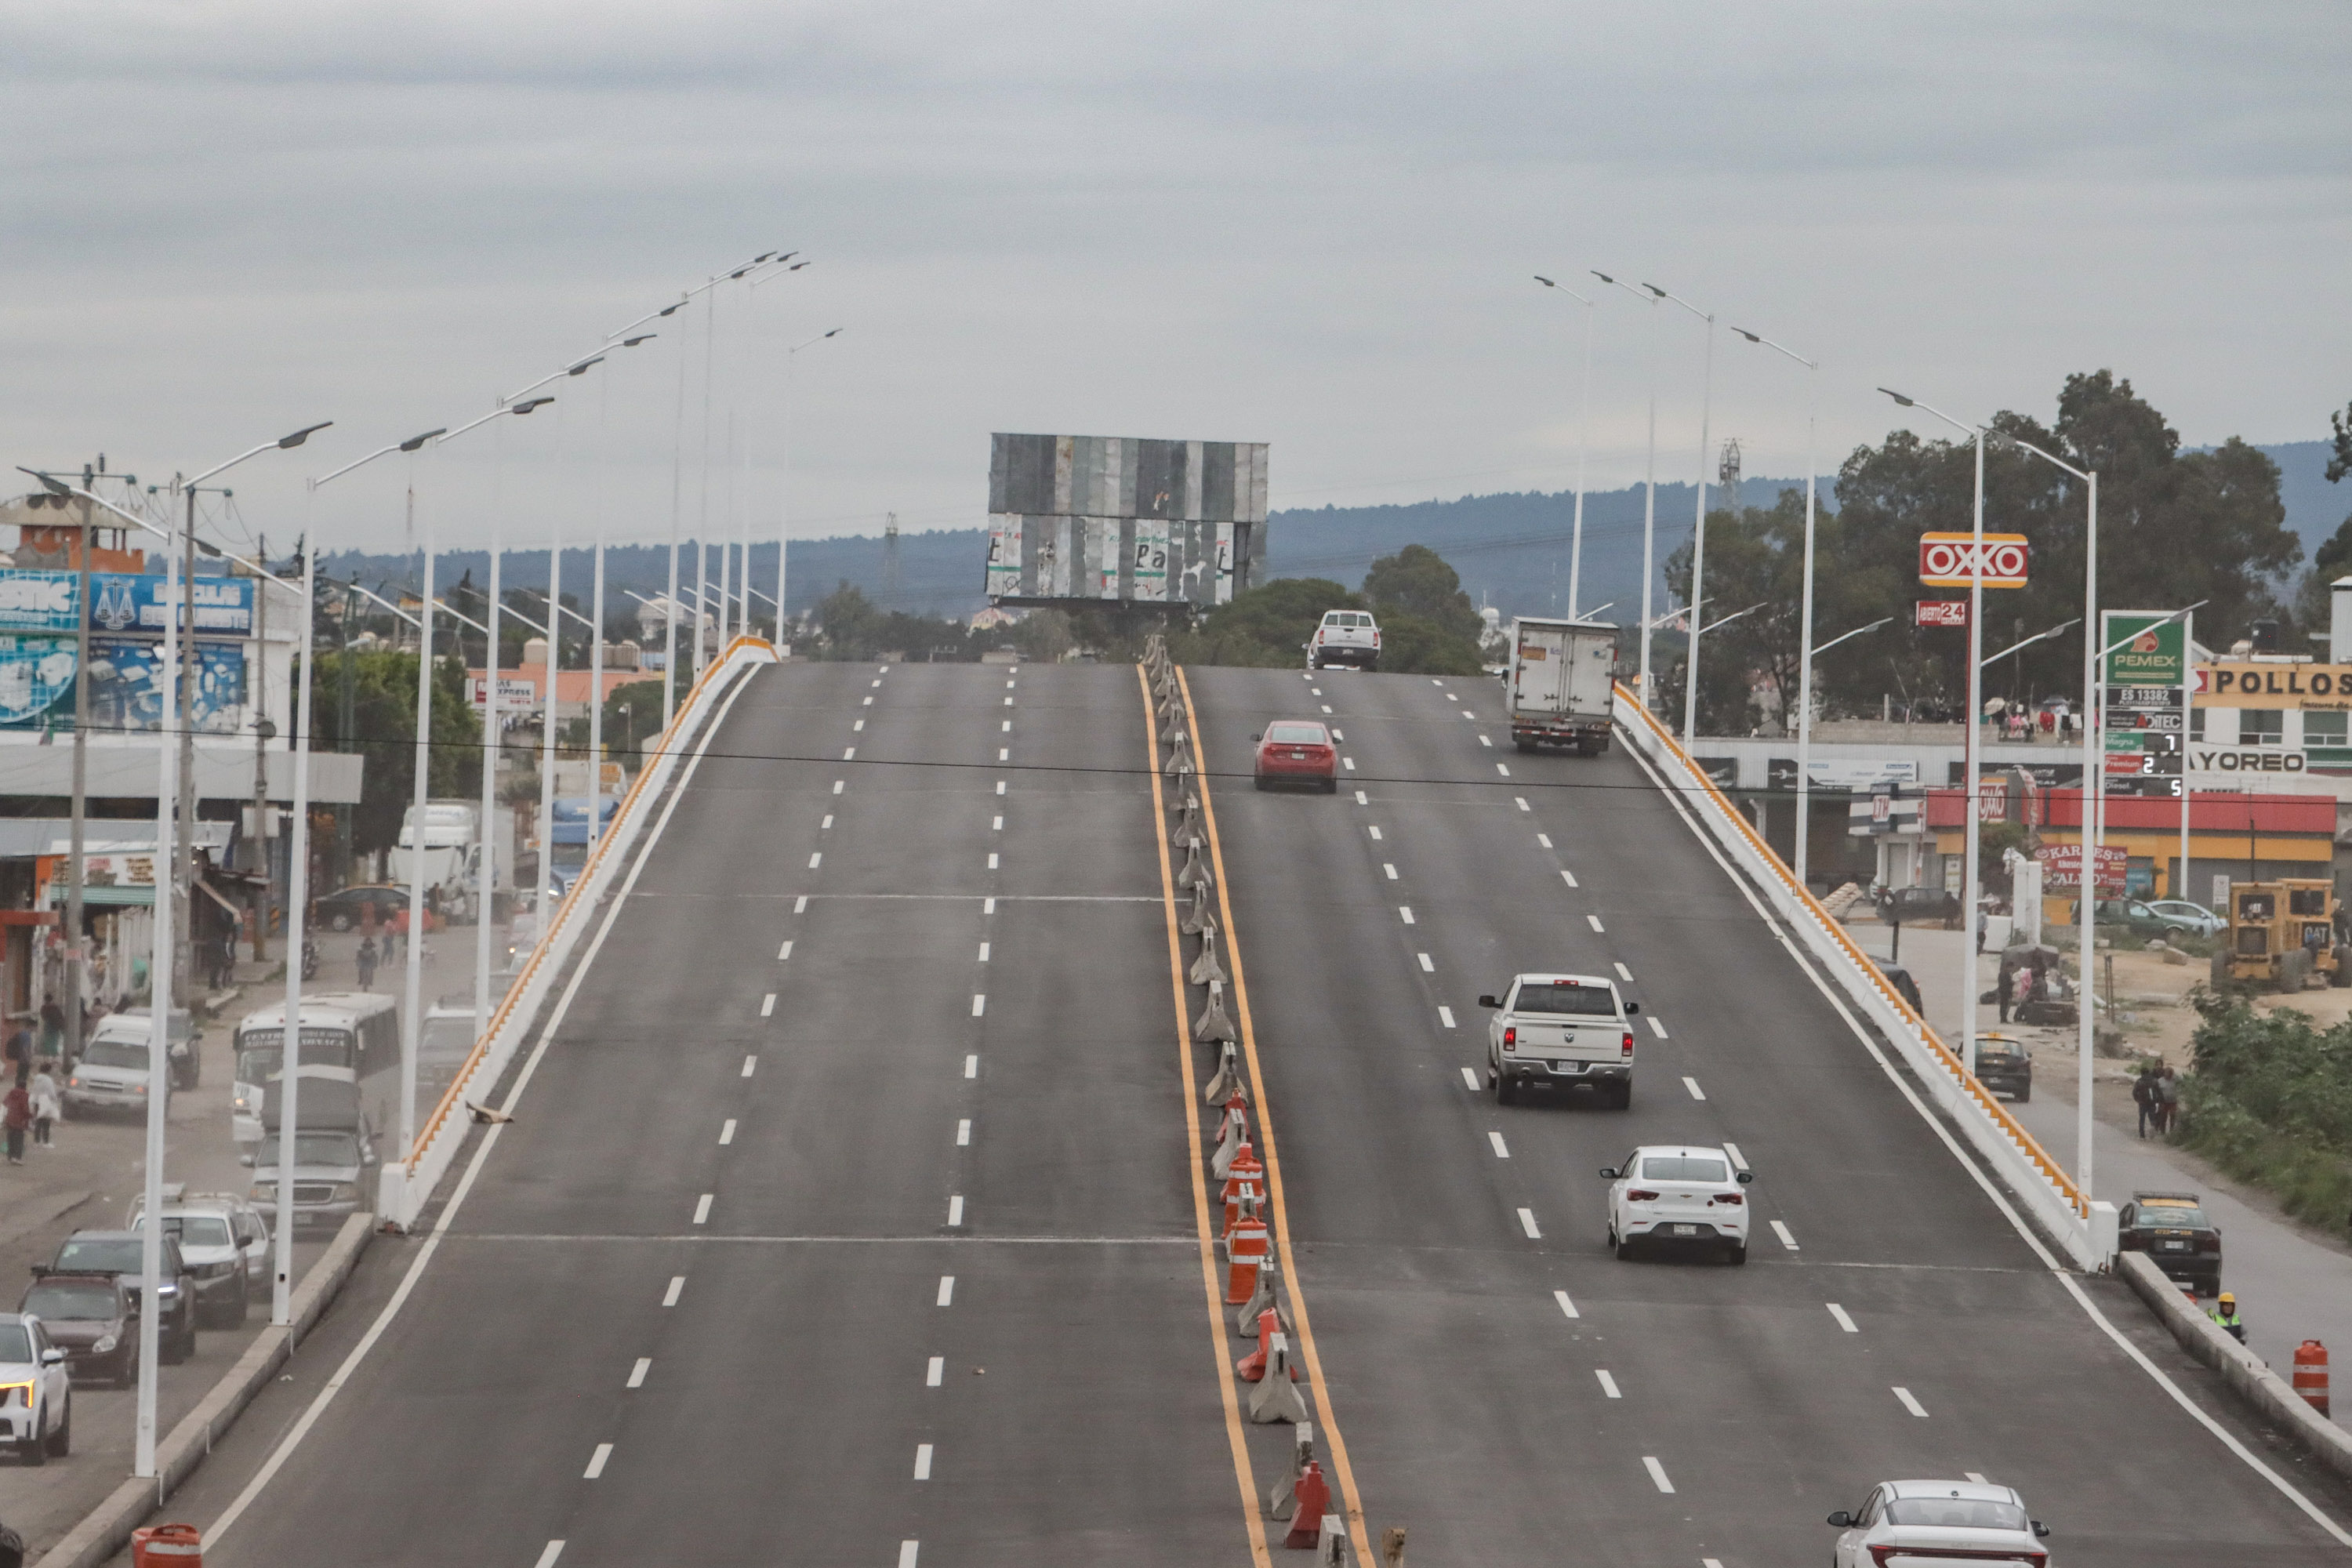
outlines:
M348 736L341 729L346 658L353 677ZM416 654L395 649L320 654L310 726L318 750L360 752L360 804L350 816L353 849L360 853L390 849L416 785ZM463 799L482 795L482 717L466 703L466 665L456 658L433 661L426 795Z

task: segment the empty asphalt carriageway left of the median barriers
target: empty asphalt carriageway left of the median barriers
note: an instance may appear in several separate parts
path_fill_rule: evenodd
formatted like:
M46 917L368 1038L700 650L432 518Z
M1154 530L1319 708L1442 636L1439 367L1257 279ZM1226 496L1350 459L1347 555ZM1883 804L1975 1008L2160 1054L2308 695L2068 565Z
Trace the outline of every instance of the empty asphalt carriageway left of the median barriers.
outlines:
M1143 717L1131 668L750 677L456 1222L207 1561L1247 1554Z

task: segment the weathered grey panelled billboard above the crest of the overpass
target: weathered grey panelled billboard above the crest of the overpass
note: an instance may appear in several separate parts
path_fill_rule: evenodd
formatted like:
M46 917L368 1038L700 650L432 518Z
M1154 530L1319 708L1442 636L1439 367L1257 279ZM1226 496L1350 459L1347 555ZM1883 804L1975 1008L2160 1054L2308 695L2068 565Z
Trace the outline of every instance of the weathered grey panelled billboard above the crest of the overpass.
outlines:
M1265 562L1265 442L995 435L993 604L1228 604Z

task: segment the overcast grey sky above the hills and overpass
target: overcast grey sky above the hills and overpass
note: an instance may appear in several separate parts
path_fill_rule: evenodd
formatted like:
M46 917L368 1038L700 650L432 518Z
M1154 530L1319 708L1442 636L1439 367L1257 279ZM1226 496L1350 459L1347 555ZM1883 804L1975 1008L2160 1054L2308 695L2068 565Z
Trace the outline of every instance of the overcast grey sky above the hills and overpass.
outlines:
M1832 463L1877 383L2046 414L2093 367L2190 442L2310 440L2347 80L2340 0L16 0L0 456L160 477L336 418L240 522L397 548L397 458L299 475L769 247L814 263L717 296L708 498L696 306L416 463L440 538L666 538L673 444L689 531L969 527L990 430L1265 440L1275 505L1562 489L1585 313L1538 270L1602 289L1595 487L1642 475L1649 310L1588 268L1820 357ZM1658 329L1689 477L1703 327ZM1719 336L1715 435L1797 473L1804 430Z

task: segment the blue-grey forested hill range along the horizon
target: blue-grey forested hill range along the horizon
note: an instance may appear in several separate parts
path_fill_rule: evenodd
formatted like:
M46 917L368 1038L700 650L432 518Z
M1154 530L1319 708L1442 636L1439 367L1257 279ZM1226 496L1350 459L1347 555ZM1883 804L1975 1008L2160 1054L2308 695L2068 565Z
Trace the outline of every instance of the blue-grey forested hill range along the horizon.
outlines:
M2305 559L2352 512L2352 484L2326 482L2326 442L2284 442L2263 447L2279 463L2279 494L2286 503L2286 527L2303 538ZM1745 505L1771 505L1783 489L1804 489L1804 480L1745 480ZM1719 505L1710 489L1708 503ZM1832 477L1820 482L1820 505L1832 510ZM1456 501L1414 501L1404 505L1324 505L1315 510L1277 510L1268 517L1270 576L1324 576L1355 588L1364 569L1402 545L1430 545L1461 571L1463 588L1477 604L1508 614L1550 614L1566 609L1569 595L1569 524L1576 496L1522 491L1498 496L1461 496ZM1691 487L1658 487L1656 555L1665 555L1691 536ZM814 607L840 583L854 583L866 597L915 614L969 616L985 604L981 564L988 552L985 529L938 529L898 536L898 590L884 595L882 538L847 534L835 538L795 538L790 599L793 614ZM414 555L329 555L320 562L334 576L360 574L360 581L416 583ZM489 557L482 550L454 550L440 557L435 576L442 585L473 571L487 581ZM564 592L588 599L588 550L564 550ZM691 583L694 548L682 552L682 574ZM604 552L604 576L612 614L635 607L623 590L642 595L668 585L666 545L616 545ZM546 555L508 555L508 588L546 588ZM776 585L776 545L753 545L753 588ZM1630 618L1642 597L1642 487L1604 489L1585 496L1585 609L1616 599L1611 618ZM1663 607L1663 578L1661 578Z

